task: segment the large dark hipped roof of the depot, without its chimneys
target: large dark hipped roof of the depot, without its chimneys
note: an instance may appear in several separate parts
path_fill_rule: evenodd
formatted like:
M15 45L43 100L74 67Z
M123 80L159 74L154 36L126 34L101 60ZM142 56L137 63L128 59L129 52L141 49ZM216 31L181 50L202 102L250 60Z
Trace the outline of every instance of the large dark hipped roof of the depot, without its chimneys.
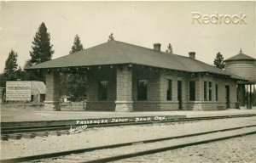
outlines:
M114 40L76 53L68 54L58 59L52 59L38 65L33 65L32 67L26 67L26 69L117 64L148 65L171 70L210 72L219 75L232 76L232 74L225 70L218 69L212 65L207 65L197 59L191 59L177 54L156 52L151 48L143 48L130 43ZM233 77L239 78L236 76Z

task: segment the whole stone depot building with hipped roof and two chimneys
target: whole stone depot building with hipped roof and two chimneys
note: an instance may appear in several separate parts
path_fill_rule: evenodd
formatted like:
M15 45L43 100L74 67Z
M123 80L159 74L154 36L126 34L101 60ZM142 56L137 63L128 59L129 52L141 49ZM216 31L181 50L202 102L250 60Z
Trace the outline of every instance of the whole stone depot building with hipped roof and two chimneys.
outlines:
M161 111L236 108L240 76L195 59L108 41L80 52L33 65L45 70L46 110L60 108L60 73L87 76L86 110Z

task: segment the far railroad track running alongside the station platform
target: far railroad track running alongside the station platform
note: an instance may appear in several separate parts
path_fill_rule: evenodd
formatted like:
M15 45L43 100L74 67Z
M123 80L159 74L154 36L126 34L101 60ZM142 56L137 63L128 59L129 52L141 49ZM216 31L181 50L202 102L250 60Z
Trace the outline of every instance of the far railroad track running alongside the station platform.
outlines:
M209 121L216 119L226 119L226 118L240 118L240 117L251 117L256 116L256 114L250 115L219 115L219 116L207 116L207 117L174 117L172 119L159 120L159 121L126 121L126 122L115 122L115 123L105 123L105 124L90 124L90 127L108 127L108 126L131 126L131 125L148 125L157 123L185 123L190 121ZM1 138L2 140L20 139L20 138L35 138L35 137L47 137L49 135L61 136L62 134L70 134L69 129L71 126L73 128L83 125L73 125L76 120L70 121L70 123L65 122L65 124L60 125L42 125L42 126L13 126L13 127L1 127ZM90 121L90 120L88 120ZM4 124L4 123L2 123Z

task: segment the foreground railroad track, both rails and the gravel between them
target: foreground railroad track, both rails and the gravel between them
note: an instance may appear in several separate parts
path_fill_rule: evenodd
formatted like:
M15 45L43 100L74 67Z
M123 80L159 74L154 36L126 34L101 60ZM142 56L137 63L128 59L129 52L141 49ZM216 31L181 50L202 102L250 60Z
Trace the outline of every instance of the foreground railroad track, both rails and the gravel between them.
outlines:
M1 162L110 162L142 155L150 155L166 150L180 149L202 143L212 143L255 133L256 125L238 126L209 132L180 135L176 137L154 138L139 142L118 143L102 147L69 150L44 155L32 155L1 160Z

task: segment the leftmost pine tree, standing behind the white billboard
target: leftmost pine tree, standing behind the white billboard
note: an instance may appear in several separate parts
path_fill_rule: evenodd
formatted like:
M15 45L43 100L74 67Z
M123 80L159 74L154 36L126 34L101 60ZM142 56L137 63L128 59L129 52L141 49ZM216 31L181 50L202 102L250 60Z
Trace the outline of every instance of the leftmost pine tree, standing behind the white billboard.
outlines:
M11 50L9 53L8 59L6 59L5 61L3 75L6 77L7 80L11 80L11 81L16 80L16 70L18 67L17 57L18 57L18 54L15 53L14 50Z

